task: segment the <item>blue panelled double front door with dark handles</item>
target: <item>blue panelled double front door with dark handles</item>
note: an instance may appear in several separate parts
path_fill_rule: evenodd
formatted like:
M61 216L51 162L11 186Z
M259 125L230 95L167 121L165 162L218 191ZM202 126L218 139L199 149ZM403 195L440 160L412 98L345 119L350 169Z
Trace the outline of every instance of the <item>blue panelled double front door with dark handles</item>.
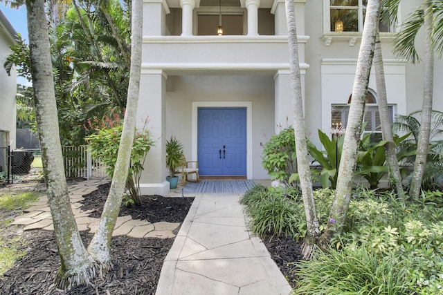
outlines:
M202 176L246 176L246 108L199 108Z

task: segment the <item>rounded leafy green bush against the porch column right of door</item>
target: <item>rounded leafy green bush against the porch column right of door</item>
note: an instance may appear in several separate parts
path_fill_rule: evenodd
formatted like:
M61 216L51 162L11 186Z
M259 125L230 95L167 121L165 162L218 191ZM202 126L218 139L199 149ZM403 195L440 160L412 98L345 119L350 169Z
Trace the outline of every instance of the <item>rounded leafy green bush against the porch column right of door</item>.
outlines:
M264 144L262 165L273 180L289 186L290 176L296 172L296 140L293 128L283 129ZM294 184L296 185L296 184Z

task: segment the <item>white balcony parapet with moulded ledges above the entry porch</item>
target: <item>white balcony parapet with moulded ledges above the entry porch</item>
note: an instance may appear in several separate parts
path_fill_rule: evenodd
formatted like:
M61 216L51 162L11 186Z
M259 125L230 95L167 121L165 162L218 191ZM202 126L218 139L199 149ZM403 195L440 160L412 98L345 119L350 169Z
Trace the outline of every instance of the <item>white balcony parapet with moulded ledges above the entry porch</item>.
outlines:
M298 37L300 66L309 37ZM145 36L143 68L183 73L273 75L289 69L287 36Z

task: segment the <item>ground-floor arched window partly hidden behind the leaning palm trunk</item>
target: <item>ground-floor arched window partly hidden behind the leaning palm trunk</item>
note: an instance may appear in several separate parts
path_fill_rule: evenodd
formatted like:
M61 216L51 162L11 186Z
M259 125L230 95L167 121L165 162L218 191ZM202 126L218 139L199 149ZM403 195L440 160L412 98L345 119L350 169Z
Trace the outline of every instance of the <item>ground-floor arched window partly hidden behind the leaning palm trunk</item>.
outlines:
M349 115L349 106L352 94L347 99L347 104L332 104L331 126L332 128L346 128L347 116ZM389 120L392 122L392 106L388 106ZM381 133L380 113L377 104L377 93L372 89L368 89L366 95L365 114L363 121L366 123L364 133Z

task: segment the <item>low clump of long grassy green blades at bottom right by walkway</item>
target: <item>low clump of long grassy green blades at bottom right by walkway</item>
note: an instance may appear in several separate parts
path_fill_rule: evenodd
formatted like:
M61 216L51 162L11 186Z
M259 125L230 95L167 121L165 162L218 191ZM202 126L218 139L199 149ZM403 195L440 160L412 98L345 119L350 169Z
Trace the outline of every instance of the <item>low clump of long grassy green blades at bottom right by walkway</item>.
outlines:
M410 294L413 285L401 256L379 256L365 247L320 251L293 265L298 278L293 294Z

